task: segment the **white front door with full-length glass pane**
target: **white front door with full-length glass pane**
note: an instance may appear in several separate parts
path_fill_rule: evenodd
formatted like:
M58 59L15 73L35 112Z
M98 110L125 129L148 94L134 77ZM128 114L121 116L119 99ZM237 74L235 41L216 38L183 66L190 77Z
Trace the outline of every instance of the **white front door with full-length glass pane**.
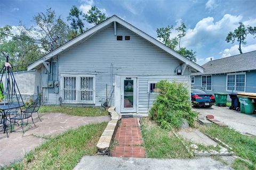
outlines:
M136 112L137 78L124 77L121 79L121 112Z

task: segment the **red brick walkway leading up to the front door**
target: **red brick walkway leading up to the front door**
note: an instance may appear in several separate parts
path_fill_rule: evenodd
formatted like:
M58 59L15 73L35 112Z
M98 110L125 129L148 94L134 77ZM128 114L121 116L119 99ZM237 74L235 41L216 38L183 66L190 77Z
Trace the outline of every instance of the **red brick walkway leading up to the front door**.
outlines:
M145 158L145 150L140 145L142 137L137 118L122 118L118 127L115 140L118 144L113 147L113 157Z

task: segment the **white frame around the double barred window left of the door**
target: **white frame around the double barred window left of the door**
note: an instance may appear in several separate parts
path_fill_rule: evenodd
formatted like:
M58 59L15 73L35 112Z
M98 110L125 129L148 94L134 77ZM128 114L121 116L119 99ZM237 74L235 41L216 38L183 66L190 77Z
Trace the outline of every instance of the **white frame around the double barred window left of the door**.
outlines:
M64 78L65 77L73 77L73 78L76 78L76 100L75 101L71 101L71 102L68 102L68 101L65 101L63 98L64 98L64 95L63 95L63 83L64 83ZM82 91L81 88L80 88L80 83L81 83L81 78L82 77L92 77L93 78L93 101L80 101L79 100L79 94L78 94L78 91ZM62 100L63 100L63 103L68 103L68 104L95 104L95 94L96 94L96 86L95 86L95 74L61 74L60 75L60 91L61 91L61 97L62 97Z

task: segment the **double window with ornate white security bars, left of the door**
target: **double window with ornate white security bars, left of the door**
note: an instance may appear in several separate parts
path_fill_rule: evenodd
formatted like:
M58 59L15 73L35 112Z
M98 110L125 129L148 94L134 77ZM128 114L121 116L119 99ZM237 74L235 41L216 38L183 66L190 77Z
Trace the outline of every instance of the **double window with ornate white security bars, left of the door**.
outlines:
M63 103L94 103L95 77L63 76L61 88Z

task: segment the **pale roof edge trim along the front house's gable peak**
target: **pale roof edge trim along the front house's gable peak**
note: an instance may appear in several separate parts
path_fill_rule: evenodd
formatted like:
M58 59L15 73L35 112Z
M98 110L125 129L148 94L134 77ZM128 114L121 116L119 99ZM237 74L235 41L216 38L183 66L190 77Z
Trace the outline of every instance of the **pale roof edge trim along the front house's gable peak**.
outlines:
M201 66L199 66L198 64L188 60L187 58L183 57L182 55L175 52L171 48L165 46L163 43L161 43L157 39L147 35L147 33L139 30L138 28L135 28L133 25L131 25L130 23L127 23L126 21L122 20L121 18L119 18L116 15L111 16L106 21L103 21L100 24L95 25L93 28L87 30L86 32L82 33L81 35L77 36L76 38L71 39L66 44L63 44L62 46L60 46L59 48L53 50L51 53L46 54L45 56L43 56L39 60L35 61L33 64L30 64L27 67L28 70L35 69L36 67L41 65L44 61L49 60L51 57L59 55L59 54L65 52L65 50L67 50L68 48L70 48L70 47L72 47L72 46L74 46L78 43L81 43L82 41L85 41L86 39L90 38L95 32L97 32L98 30L100 30L102 28L107 27L107 25L109 25L112 22L118 22L119 24L123 25L125 28L137 33L137 35L145 38L146 40L150 41L154 45L156 45L159 48L165 50L167 53L169 53L172 56L178 58L183 63L186 63L188 66L192 67L193 69L203 73L204 69Z

